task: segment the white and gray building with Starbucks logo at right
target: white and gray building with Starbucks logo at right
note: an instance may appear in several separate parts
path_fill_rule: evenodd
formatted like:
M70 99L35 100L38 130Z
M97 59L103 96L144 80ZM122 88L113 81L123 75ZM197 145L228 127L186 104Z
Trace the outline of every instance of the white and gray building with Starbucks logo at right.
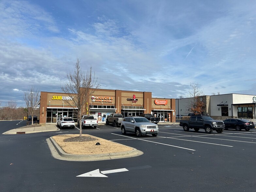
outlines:
M192 98L176 99L176 115L188 115L188 103ZM201 96L205 104L204 114L209 114L214 119L243 118L256 119L255 95L223 94Z

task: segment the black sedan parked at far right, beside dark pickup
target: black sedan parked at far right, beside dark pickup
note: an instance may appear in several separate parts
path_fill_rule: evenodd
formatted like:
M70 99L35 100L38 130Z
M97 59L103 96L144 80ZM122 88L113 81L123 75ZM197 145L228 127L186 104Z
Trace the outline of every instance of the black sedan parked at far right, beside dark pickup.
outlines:
M250 129L254 129L254 123L252 121L246 120L246 119L226 119L223 121L225 124L225 130L228 129L235 129L236 131L241 131L242 129L245 129L246 131L249 131Z

